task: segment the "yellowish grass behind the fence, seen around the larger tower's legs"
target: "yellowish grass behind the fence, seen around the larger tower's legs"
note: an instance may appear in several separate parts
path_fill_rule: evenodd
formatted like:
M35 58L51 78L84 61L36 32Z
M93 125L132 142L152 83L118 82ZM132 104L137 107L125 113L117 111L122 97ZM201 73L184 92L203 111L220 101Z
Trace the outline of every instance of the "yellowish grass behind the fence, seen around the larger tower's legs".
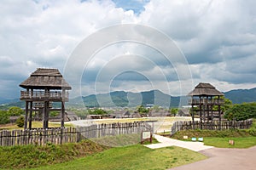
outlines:
M65 122L65 127L72 127L73 125L69 122ZM43 122L32 122L32 128L42 128ZM61 122L49 122L49 127L61 127ZM0 125L0 130L13 130L13 129L24 129L24 127L18 127L15 123L9 123Z

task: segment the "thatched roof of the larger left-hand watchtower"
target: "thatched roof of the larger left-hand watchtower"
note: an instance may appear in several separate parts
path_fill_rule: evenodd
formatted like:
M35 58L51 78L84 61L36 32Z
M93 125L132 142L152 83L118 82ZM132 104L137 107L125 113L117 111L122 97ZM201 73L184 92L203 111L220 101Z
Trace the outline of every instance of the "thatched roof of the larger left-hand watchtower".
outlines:
M71 86L64 80L58 69L38 68L26 81L20 83L21 88L33 89L67 89Z

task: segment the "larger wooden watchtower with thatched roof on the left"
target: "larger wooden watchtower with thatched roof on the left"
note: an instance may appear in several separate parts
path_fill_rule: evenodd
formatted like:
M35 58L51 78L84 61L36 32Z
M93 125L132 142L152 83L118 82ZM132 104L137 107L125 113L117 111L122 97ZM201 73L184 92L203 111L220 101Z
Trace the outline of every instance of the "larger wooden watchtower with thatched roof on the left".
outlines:
M64 80L58 69L38 68L24 82L20 83L20 100L26 102L24 129L32 129L32 111L40 112L43 117L43 128L48 128L49 111L61 111L61 127L64 127L65 102L71 86ZM60 102L61 109L53 108L53 102Z

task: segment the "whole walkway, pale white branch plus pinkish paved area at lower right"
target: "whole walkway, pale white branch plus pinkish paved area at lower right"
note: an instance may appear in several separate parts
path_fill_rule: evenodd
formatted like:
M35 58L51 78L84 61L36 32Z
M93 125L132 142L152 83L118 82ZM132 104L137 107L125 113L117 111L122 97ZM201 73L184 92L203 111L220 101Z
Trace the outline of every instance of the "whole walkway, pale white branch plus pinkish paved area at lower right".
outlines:
M159 144L148 144L148 148L156 149L166 146L179 146L189 150L199 151L208 157L206 160L196 161L170 170L255 170L256 146L249 149L214 148L201 142L184 142L154 134Z

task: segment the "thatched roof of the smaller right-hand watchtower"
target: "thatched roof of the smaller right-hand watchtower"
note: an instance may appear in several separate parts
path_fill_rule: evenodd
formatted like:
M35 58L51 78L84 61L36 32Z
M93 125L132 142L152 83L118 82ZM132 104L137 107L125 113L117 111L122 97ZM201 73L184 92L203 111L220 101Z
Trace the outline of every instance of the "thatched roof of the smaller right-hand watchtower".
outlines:
M200 82L189 96L223 96L212 84Z

